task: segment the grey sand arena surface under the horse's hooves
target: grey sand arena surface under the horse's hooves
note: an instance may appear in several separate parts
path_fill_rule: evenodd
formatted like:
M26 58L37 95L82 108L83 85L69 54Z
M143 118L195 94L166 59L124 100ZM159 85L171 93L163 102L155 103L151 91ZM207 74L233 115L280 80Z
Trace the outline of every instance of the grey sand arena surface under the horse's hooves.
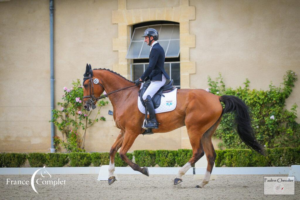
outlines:
M218 175L204 188L200 181L184 175L174 186L175 175L118 175L119 181L97 181L98 175L52 175L44 180L66 180L65 185L30 185L31 175L0 175L0 199L299 199L300 182L295 195L263 195L263 175ZM28 180L29 185L6 185L11 180ZM36 175L35 180L42 178ZM42 178L43 179L43 178Z

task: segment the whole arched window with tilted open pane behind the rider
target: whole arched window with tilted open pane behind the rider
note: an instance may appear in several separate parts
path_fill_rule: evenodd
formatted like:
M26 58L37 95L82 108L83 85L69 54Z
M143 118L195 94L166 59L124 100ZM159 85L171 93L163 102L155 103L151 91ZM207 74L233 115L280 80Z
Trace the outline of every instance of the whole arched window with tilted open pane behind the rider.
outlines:
M170 79L174 80L174 85L180 89L179 24L175 22L153 21L133 25L133 33L126 55L127 59L132 59L131 80L138 79L149 66L150 46L144 42L144 37L141 37L147 28L155 28L158 31L158 42L164 48L166 57L164 69L170 75Z

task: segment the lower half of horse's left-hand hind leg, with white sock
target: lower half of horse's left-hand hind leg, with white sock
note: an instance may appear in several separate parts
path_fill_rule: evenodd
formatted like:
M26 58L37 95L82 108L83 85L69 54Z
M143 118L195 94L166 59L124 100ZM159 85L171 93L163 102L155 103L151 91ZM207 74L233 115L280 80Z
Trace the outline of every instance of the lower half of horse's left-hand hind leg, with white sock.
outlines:
M178 174L176 175L176 177L174 179L174 185L181 183L182 175L184 175L187 172L187 170L190 169L191 166L194 165L204 155L203 147L201 144L201 138L198 140L190 139L190 143L191 143L192 149L193 149L193 156L184 166L182 166L182 168L179 169Z

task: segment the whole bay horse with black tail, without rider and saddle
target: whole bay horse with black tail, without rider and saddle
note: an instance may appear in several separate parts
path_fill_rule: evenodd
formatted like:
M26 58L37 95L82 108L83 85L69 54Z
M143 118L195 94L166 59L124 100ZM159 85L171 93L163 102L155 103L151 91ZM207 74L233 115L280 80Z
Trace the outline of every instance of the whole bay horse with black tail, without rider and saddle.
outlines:
M96 108L97 101L102 98L105 91L112 106L113 118L120 133L110 149L109 185L116 180L115 155L119 148L119 154L133 170L149 176L148 168L141 168L126 156L134 140L144 133L142 124L144 114L137 106L138 91L140 85L113 72L109 69L91 70L91 65L86 66L83 80L84 109L90 111ZM223 109L220 102L225 104ZM158 129L152 129L153 133L166 133L186 126L190 144L193 149L192 158L179 169L174 179L174 185L182 182L184 175L190 167L206 154L208 165L205 176L196 187L203 188L208 183L211 175L216 153L211 142L211 136L220 124L222 115L235 111L237 132L241 140L251 149L264 155L264 149L255 139L251 127L251 118L246 104L235 96L217 96L202 89L177 89L177 106L173 111L156 114L161 123Z

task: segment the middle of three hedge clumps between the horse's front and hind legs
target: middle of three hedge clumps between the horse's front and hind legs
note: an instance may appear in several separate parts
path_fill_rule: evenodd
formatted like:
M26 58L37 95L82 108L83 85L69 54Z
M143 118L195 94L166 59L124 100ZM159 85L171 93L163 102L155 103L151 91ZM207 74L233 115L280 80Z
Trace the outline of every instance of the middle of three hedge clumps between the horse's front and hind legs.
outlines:
M160 167L174 167L177 155L178 151L174 150L156 150L155 163Z

